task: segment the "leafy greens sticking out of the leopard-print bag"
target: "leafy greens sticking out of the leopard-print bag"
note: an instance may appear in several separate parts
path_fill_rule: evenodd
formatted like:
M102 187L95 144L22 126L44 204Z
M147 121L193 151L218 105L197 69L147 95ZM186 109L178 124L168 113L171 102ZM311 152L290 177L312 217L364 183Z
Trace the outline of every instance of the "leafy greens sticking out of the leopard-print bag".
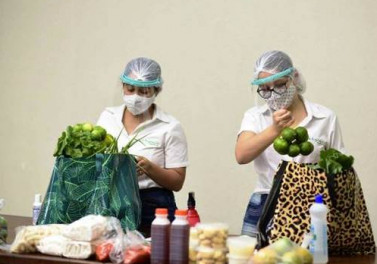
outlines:
M342 154L336 149L321 150L320 159L314 168L321 168L327 174L337 174L352 167L353 157Z

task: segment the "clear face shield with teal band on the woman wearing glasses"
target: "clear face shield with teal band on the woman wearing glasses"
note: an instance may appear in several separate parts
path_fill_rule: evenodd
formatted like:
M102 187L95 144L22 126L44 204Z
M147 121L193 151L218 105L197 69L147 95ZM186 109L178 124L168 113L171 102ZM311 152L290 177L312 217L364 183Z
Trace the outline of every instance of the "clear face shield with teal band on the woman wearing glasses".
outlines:
M292 86L292 72L293 68L289 68L266 78L253 80L251 90L254 104L260 106L267 102L273 110L287 107L296 92Z

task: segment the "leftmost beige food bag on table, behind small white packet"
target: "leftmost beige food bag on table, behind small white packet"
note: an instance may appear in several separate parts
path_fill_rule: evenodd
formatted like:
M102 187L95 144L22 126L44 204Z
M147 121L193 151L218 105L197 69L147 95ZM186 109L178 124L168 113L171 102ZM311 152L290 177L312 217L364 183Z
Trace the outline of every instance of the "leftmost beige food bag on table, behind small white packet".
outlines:
M13 253L36 252L36 245L42 238L51 235L62 235L66 226L63 224L21 226L16 230L16 238L10 250Z

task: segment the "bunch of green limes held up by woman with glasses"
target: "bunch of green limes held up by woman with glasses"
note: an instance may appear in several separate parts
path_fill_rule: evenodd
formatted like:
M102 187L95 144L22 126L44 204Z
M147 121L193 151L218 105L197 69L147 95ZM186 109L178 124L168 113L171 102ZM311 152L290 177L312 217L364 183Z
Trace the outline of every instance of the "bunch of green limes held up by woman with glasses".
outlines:
M314 146L309 140L309 134L305 127L295 129L286 127L280 136L274 140L274 149L281 155L296 157L297 155L309 155Z

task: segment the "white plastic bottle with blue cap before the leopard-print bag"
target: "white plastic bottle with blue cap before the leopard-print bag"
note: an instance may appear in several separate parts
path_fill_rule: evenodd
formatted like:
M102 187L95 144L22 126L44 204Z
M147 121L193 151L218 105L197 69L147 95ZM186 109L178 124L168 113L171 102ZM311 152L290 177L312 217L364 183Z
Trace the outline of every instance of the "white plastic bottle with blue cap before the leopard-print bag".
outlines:
M310 232L313 235L309 248L313 255L314 263L328 262L327 211L322 195L316 195L314 204L309 209Z

